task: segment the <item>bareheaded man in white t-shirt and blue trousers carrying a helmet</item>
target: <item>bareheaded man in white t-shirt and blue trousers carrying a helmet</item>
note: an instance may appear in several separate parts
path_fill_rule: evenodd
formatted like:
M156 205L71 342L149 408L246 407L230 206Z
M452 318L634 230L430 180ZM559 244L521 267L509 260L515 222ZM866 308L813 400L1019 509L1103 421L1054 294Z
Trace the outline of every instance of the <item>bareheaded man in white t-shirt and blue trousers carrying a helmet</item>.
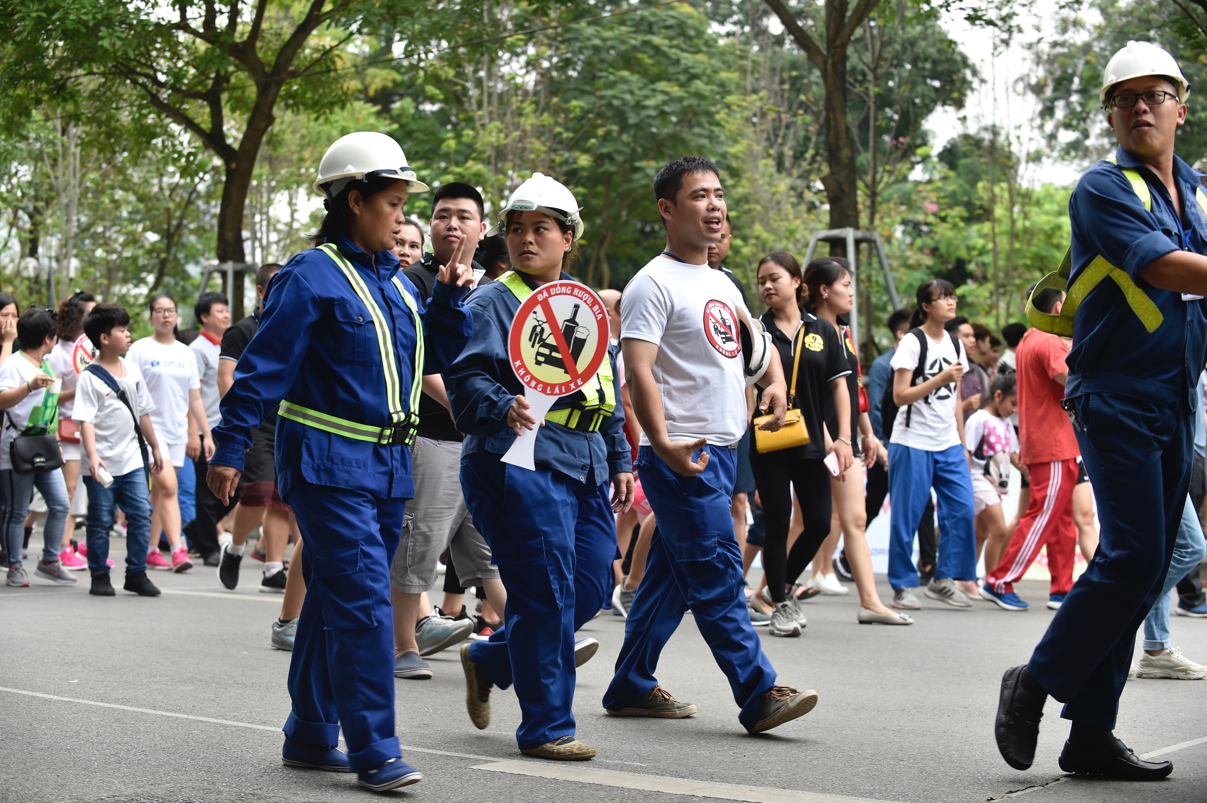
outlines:
M641 421L636 467L658 517L646 576L625 625L624 646L604 708L616 716L678 719L695 705L654 678L663 646L690 608L729 679L739 722L760 733L807 714L814 691L777 686L751 625L742 556L729 515L735 447L746 432L746 373L739 316L750 313L733 282L709 268L725 200L717 168L683 157L658 171L654 197L666 250L629 282L620 300L628 386ZM786 388L772 359L764 386L765 424L783 424Z

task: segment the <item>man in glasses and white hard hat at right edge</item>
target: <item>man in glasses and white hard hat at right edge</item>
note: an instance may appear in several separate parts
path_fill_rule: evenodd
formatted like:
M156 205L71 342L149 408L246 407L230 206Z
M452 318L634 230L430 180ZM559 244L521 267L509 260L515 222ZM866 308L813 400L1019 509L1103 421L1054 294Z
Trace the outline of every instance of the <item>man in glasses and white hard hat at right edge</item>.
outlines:
M1114 157L1078 181L1069 199L1066 266L1039 282L1063 288L1059 315L1031 304L1040 329L1073 338L1065 409L1098 499L1102 539L1026 666L1002 679L995 735L1005 761L1034 761L1048 696L1072 720L1061 769L1159 779L1115 738L1119 696L1136 629L1168 593L1190 480L1195 385L1207 361L1207 197L1202 174L1173 153L1190 87L1177 61L1129 42L1098 95L1119 141ZM1110 281L1106 281L1106 280Z

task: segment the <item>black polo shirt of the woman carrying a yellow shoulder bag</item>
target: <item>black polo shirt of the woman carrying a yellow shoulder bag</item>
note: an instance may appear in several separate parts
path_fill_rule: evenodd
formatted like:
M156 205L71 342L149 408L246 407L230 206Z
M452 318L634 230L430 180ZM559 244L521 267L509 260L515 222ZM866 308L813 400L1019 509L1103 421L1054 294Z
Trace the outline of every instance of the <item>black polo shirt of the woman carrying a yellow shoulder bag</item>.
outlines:
M797 393L792 406L801 411L805 418L805 428L809 430L809 442L804 446L783 449L775 452L760 453L757 449L751 449L751 459L799 459L826 457L826 435L822 432L822 421L826 418L827 408L833 410L834 402L830 394L829 383L851 373L847 361L844 358L842 341L839 340L838 332L829 321L818 318L809 312L801 311L800 326L804 329L801 335L800 368L797 374ZM795 361L794 346L798 332L785 333L775 324L775 316L770 310L759 318L763 327L771 335L780 353L780 363L783 365L783 381L792 394L792 367ZM762 395L762 391L759 391ZM858 398L856 399L858 405ZM858 409L858 406L856 406ZM763 415L756 408L756 415Z

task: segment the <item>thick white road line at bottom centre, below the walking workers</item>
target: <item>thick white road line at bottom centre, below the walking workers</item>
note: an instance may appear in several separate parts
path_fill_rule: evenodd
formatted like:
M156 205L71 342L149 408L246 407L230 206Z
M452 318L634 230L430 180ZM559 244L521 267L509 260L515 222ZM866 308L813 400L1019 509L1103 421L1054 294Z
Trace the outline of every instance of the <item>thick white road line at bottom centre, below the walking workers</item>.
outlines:
M619 789L639 789L647 792L665 792L667 795L692 795L694 797L712 797L722 801L748 801L750 803L891 803L871 798L818 795L816 792L798 792L787 789L771 789L769 786L739 786L736 784L713 784L689 778L636 775L614 769L593 769L585 766L585 763L496 761L490 764L478 764L477 767L471 767L471 769L550 778L578 784L599 784L600 786L616 786Z

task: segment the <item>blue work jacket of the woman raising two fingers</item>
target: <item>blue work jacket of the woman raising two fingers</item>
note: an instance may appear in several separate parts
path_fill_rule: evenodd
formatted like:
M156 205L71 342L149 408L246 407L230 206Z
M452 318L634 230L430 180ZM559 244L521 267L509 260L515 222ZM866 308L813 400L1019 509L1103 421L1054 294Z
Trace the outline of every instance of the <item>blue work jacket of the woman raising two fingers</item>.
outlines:
M424 318L425 374L438 374L473 334L461 305L465 288L436 283L422 298L384 251L366 253L350 240L328 240L354 265L393 338L403 410L410 409L415 375L415 320L391 281L402 281ZM211 463L243 470L251 430L281 399L373 427L390 424L385 373L368 309L348 277L325 252L296 254L273 277L264 297L260 329L234 369L234 383L222 397L222 424L214 429ZM288 418L276 424L276 483L282 497L295 482L365 491L375 497L409 499L415 486L410 449L345 438Z

